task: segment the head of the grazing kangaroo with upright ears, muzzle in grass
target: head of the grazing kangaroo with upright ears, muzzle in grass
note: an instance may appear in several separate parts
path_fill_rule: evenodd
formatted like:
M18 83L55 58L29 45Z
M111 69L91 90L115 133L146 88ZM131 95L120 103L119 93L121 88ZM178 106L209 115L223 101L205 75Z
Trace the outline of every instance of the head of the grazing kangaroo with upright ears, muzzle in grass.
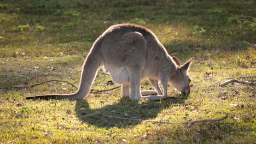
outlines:
M189 83L191 79L188 74L188 70L194 58L190 58L184 64L181 64L181 62L177 57L172 57L172 59L178 65L178 68L176 71L176 75L171 77L170 82L175 88L181 91L182 94L189 94L190 93Z

